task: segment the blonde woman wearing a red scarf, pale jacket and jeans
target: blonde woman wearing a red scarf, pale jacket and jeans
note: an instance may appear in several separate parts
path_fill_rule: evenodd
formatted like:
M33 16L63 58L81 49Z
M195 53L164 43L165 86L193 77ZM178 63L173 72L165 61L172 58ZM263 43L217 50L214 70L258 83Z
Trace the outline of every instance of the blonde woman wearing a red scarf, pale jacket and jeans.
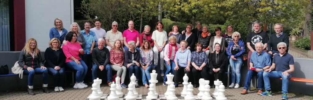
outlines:
M166 63L166 72L163 80L163 85L167 86L166 82L166 75L169 73L174 74L174 68L175 68L175 56L177 50L180 48L180 45L177 42L177 38L175 36L171 36L168 38L169 44L165 45L164 48L164 60Z

